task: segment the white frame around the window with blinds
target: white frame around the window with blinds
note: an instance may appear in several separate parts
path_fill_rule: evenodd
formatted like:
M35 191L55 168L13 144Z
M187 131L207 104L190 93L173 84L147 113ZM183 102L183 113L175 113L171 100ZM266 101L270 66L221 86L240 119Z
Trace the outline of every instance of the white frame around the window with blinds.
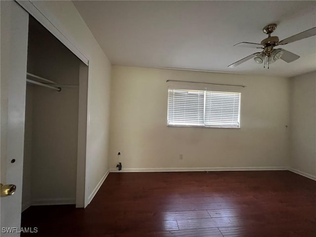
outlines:
M214 86L215 87L215 86ZM203 90L203 91L214 91L214 92L235 92L239 93L239 111L238 111L238 121L239 125L238 127L236 126L208 126L208 125L184 125L184 124L179 124L179 125L170 125L168 124L168 115L169 115L169 89L174 89L174 90ZM204 111L205 111L205 104L204 104ZM228 89L228 88L223 88L220 86L219 88L209 88L209 87L197 87L197 86L168 86L167 88L167 116L166 116L166 123L167 127L200 127L200 128L233 128L233 129L240 129L241 128L241 91L240 90L234 90L234 89Z

